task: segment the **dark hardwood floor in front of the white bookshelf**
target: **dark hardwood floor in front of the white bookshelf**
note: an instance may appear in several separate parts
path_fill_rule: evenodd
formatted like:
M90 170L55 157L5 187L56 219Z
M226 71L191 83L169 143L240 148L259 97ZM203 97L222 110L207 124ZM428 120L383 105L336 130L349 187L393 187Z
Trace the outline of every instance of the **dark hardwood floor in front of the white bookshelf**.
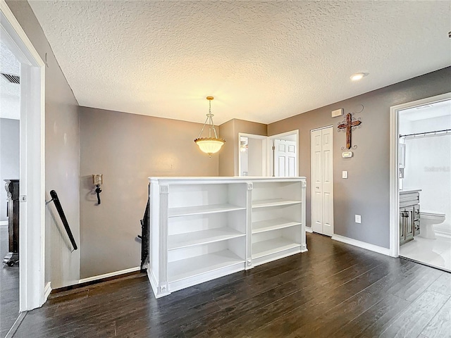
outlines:
M146 276L79 289L14 337L451 337L451 274L307 234L309 251L156 300Z

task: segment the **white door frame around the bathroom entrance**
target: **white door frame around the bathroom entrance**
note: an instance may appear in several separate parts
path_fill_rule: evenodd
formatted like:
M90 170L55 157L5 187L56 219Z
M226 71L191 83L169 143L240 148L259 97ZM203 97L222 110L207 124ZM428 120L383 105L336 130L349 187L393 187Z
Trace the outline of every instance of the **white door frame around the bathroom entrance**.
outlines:
M451 99L451 92L390 107L390 256L392 257L400 255L400 181L398 178L400 111L449 99Z

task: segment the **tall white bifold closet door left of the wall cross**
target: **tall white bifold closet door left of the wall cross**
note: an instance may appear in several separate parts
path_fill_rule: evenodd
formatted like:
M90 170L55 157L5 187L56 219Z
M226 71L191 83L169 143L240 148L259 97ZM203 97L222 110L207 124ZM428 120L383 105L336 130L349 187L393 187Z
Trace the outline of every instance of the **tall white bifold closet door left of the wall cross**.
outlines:
M311 227L333 235L333 127L311 130Z

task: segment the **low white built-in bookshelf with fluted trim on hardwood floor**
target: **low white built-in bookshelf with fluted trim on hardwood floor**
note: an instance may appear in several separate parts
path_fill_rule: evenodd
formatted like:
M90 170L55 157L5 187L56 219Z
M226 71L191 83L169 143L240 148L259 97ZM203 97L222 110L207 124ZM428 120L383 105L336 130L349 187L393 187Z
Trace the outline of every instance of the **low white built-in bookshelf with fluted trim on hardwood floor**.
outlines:
M307 251L304 177L149 180L147 274L157 298Z

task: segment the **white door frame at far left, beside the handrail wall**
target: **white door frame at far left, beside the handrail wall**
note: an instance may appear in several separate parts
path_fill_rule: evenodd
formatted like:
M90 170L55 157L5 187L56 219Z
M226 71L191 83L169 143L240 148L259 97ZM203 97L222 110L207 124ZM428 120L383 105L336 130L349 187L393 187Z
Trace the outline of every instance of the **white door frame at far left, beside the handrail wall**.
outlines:
M4 0L0 29L21 64L19 311L42 306L45 289L45 63ZM28 170L32 168L32 170Z

